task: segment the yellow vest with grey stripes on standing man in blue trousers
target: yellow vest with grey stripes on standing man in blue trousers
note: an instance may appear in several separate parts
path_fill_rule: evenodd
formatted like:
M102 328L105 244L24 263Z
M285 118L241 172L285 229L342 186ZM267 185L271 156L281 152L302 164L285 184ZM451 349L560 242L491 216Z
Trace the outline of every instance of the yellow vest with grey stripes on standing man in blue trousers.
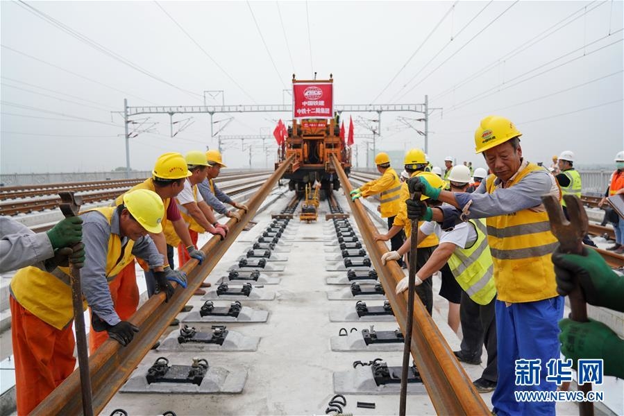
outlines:
M540 169L543 167L528 164L507 182L507 188ZM495 179L495 175L487 177L488 193L496 192ZM555 269L550 260L557 247L557 239L550 232L546 210L523 209L489 217L486 223L498 300L521 303L557 296Z

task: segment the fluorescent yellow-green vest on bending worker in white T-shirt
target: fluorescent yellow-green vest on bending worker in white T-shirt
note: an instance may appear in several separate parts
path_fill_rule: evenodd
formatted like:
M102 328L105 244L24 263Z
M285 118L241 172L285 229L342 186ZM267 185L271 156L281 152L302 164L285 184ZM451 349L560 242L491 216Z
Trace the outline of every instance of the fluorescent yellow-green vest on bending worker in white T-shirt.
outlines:
M487 305L496 296L496 285L485 220L469 220L468 223L477 232L477 240L471 247L455 248L448 259L448 266L470 298L480 305Z

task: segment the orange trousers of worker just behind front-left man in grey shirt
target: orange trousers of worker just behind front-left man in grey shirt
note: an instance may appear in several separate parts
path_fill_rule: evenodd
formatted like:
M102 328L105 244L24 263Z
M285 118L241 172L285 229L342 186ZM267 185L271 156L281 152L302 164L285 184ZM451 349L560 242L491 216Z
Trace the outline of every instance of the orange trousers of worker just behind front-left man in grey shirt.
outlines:
M135 262L128 264L108 285L112 304L121 320L128 320L139 306L139 287L137 286L137 274ZM89 309L91 311L91 309ZM89 331L89 352L93 354L96 349L108 340L108 332Z

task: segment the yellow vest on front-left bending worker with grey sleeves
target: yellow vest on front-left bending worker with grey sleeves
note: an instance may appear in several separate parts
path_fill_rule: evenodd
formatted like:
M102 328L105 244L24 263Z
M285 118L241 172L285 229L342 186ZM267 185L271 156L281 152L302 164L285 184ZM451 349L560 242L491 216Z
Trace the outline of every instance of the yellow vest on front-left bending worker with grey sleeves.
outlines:
M115 207L103 207L89 211L98 211L110 223L115 209ZM132 254L134 243L128 239L122 253L121 239L117 234L110 234L106 256L106 280L109 284L128 263L134 260L135 257ZM66 267L44 272L39 268L28 266L18 270L11 279L11 293L19 304L37 318L56 329L63 329L74 319L69 275L69 268ZM87 309L84 297L83 309Z

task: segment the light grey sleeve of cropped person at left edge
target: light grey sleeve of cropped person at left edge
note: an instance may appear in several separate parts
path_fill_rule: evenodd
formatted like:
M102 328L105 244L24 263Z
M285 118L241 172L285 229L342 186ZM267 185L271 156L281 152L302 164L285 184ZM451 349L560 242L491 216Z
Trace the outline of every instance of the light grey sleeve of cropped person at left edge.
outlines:
M46 270L44 260L54 257L48 235L35 234L26 225L0 216L0 272L35 266Z

